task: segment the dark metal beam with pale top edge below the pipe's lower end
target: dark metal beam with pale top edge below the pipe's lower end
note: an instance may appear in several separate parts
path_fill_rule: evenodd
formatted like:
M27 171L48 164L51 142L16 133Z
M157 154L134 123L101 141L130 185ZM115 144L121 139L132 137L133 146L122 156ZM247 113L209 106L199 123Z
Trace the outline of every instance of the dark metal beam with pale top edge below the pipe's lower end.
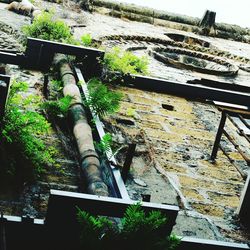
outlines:
M56 226L58 229L60 229L61 225L65 230L71 231L74 230L74 227L69 225L77 223L76 206L93 215L121 218L127 207L136 203L137 201L133 200L50 190L45 224L47 226ZM157 210L167 216L169 231L166 234L172 231L179 212L178 206L148 202L142 202L141 206L145 212Z

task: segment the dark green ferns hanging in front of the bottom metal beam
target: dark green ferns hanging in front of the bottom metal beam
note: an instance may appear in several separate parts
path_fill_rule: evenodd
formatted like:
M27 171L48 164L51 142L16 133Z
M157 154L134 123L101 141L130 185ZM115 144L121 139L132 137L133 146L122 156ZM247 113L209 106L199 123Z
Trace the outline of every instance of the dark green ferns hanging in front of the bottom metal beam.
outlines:
M172 250L179 244L175 236L166 236L167 218L159 211L146 214L140 204L127 208L119 225L106 217L95 217L78 209L80 240L88 249Z

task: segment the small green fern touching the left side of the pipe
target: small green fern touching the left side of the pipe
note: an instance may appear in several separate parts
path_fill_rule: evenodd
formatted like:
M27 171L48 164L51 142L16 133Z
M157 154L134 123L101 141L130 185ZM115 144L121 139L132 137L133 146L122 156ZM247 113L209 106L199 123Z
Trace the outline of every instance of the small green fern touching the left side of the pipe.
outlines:
M53 117L56 116L66 116L69 106L71 104L72 97L65 96L60 98L57 101L46 101L42 104L42 108L44 108L47 113Z

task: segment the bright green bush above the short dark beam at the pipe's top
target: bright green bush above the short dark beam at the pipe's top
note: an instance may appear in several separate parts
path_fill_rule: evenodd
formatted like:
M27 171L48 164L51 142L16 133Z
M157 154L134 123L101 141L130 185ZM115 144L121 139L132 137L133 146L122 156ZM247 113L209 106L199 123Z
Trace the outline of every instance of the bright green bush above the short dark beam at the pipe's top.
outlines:
M54 17L53 12L44 11L35 17L31 25L23 27L26 36L75 44L69 26L61 20Z

